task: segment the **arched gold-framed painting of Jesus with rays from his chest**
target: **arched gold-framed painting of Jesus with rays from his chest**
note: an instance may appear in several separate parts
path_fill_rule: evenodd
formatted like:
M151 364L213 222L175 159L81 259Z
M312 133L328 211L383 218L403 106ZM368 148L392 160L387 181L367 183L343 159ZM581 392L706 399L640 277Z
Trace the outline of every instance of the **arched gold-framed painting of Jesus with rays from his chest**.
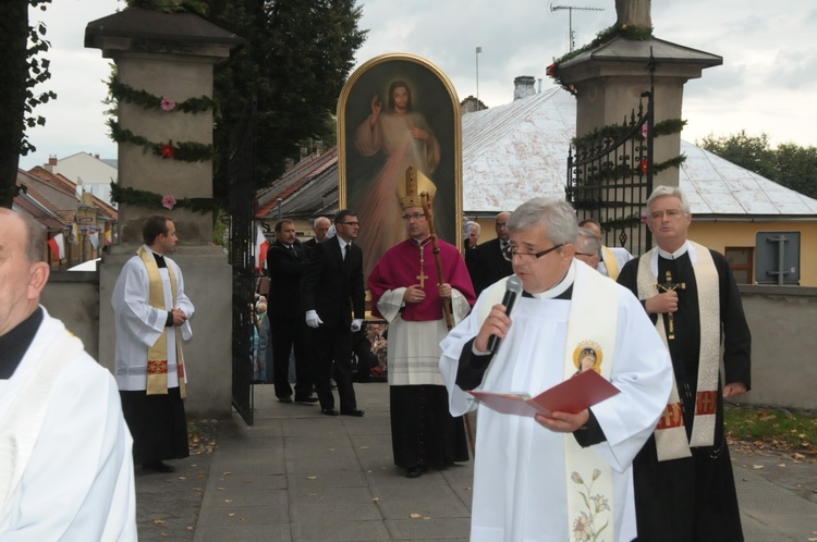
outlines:
M460 103L444 73L416 56L376 57L352 74L338 102L340 208L357 212L364 279L406 238L398 188L416 168L436 186L437 235L462 238Z

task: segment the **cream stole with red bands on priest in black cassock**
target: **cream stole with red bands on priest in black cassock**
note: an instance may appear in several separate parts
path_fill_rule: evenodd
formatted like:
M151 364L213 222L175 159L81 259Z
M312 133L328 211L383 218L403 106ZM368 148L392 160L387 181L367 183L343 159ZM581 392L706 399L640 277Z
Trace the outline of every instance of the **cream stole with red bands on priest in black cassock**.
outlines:
M718 370L720 358L720 286L718 270L712 255L705 246L687 241L687 251L693 261L697 286L700 323L700 348L698 354L698 381L695 396L695 412L692 436L686 440L681 398L673 373L670 399L656 427L656 452L659 461L688 457L690 447L711 446L715 442L715 418L718 405ZM693 258L694 256L694 258ZM655 260L655 270L653 269ZM656 295L658 282L658 251L656 248L638 261L638 299L646 300ZM663 315L658 315L656 329L668 344ZM669 348L669 346L668 346Z

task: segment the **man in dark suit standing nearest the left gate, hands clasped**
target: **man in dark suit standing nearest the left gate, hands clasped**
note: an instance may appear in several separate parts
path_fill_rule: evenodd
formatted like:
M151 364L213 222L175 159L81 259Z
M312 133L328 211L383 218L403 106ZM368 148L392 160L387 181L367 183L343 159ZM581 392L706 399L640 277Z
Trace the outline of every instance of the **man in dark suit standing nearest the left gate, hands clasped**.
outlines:
M306 249L295 237L295 224L281 220L276 224L276 243L267 252L270 276L269 318L272 332L272 370L267 381L276 384L276 397L292 403L289 382L290 352L295 347L295 403L317 403L312 396L313 370L307 352L306 325L301 305L301 280L306 269Z

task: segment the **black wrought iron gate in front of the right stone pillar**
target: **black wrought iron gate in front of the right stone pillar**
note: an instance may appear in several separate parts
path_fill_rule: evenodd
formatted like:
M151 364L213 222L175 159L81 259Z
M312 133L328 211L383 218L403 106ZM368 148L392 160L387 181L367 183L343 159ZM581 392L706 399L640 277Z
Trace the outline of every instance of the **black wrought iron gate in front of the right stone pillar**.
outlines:
M580 222L595 219L601 224L605 245L621 246L634 255L644 254L653 244L644 221L653 192L653 90L642 98L647 98L646 112L642 99L637 112L633 110L620 126L571 145L565 187Z

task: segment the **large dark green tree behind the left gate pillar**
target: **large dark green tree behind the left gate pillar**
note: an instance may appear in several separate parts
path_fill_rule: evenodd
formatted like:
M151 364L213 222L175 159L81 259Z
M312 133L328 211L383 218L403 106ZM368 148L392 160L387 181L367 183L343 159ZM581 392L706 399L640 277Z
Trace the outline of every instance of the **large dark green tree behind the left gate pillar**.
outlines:
M256 181L267 186L308 141L334 140L338 97L366 37L355 0L206 0L208 16L247 39L216 66L221 116L214 195L227 194L231 137L256 99Z

